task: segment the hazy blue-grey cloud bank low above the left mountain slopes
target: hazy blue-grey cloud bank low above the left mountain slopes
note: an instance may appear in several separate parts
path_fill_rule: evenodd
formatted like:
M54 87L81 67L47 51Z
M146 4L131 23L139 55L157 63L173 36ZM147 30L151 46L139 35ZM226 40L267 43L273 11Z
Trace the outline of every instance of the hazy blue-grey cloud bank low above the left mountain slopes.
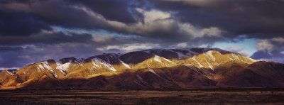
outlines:
M23 67L33 62L65 57L91 57L101 54L98 45L87 43L54 43L18 46L19 50L0 51L0 67ZM7 49L7 48L6 48Z

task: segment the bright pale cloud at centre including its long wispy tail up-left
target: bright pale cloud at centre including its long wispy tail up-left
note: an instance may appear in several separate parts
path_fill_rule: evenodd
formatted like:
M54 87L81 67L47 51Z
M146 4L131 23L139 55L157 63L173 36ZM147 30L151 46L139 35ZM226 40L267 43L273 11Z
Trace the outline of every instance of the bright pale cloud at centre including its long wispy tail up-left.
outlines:
M158 11L155 9L146 11L138 8L136 11L143 14L143 21L126 24L119 21L109 21L98 13L94 13L93 11L83 7L80 8L88 13L89 16L93 16L94 19L99 20L100 23L104 23L110 28L132 34L149 35L149 33L155 32L173 33L173 31L176 31L182 35L188 35L191 38L201 38L204 35L218 37L223 32L217 27L201 28L192 26L191 23L180 23L171 16L171 13L173 12Z

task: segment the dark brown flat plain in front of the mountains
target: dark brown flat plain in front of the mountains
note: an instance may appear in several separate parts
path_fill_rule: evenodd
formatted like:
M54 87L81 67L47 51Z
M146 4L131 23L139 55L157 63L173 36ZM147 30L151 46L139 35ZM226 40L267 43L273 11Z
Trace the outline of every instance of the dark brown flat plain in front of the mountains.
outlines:
M284 104L284 90L1 90L0 104Z

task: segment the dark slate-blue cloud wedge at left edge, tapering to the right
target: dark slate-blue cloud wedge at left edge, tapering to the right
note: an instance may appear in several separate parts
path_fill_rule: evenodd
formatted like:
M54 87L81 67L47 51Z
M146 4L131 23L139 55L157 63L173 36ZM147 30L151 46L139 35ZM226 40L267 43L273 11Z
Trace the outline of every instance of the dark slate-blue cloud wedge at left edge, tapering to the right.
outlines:
M50 28L27 13L0 10L0 36L31 35L42 29Z

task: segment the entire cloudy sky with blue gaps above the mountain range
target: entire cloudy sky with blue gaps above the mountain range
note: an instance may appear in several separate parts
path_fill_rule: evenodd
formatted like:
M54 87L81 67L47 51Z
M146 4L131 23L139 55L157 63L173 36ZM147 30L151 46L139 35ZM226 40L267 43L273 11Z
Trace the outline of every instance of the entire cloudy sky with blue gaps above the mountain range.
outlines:
M0 0L0 70L64 57L191 47L284 63L284 1Z

